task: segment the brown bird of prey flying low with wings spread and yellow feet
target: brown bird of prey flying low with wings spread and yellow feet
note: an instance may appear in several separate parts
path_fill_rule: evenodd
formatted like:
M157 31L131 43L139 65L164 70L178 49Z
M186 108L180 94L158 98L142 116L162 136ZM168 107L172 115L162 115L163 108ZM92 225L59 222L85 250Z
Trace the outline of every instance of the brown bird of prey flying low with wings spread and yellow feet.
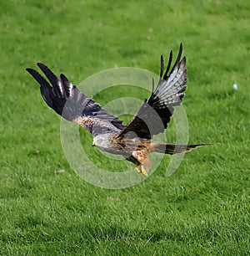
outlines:
M101 105L77 89L64 74L57 77L46 65L37 63L47 79L34 69L28 73L40 84L43 100L66 120L81 125L92 133L92 146L102 151L124 156L133 162L138 173L148 175L149 153L176 154L191 151L204 144L169 144L153 141L153 136L163 132L173 115L173 107L183 101L187 89L186 58L181 59L183 45L171 68L173 52L170 52L168 66L163 74L163 55L158 86L127 125L116 116L108 114Z

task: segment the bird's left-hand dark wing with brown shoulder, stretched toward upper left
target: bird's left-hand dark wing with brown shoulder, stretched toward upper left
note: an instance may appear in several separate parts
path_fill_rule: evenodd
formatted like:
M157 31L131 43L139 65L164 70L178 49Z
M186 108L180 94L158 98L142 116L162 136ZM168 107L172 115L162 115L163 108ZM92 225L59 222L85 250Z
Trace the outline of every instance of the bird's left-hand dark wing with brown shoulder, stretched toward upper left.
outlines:
M52 86L34 69L26 69L29 74L40 84L43 100L57 114L66 120L71 120L97 136L107 132L119 132L125 125L114 115L107 113L101 105L87 98L73 85L64 74L57 77L46 65L38 63L37 66L47 76Z

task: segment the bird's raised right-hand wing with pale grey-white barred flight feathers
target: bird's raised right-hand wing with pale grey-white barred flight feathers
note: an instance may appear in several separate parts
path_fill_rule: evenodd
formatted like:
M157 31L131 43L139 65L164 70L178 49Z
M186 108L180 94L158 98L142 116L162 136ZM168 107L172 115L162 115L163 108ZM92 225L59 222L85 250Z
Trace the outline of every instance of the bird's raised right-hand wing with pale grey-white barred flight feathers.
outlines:
M158 87L153 90L150 98L145 100L138 113L117 135L118 137L136 134L138 137L150 139L167 128L170 117L173 115L173 106L181 104L183 91L187 88L185 85L187 83L186 58L183 57L181 60L182 53L183 44L180 44L178 58L169 72L173 59L173 52L170 52L165 74L163 74L163 55L161 56Z

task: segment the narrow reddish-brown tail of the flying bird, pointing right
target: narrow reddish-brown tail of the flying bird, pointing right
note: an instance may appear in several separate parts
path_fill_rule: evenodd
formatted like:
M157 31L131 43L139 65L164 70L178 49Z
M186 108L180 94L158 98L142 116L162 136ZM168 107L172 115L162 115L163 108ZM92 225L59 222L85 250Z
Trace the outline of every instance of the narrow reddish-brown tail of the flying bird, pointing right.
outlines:
M159 152L163 154L178 154L192 151L199 146L206 146L207 144L168 144L163 142L153 141L151 145L151 152Z

